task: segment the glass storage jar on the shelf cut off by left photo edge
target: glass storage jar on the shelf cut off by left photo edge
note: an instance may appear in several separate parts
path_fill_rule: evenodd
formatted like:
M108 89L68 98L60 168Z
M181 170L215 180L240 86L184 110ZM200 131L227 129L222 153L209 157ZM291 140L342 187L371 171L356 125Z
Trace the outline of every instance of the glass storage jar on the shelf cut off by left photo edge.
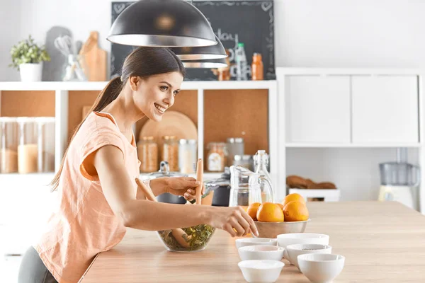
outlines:
M16 117L0 117L0 172L18 172L18 122Z

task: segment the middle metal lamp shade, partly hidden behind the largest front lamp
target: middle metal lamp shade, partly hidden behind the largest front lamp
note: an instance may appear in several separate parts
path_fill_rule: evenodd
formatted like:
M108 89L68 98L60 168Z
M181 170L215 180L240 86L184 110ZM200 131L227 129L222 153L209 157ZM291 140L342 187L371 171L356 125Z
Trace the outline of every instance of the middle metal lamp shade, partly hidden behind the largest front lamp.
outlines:
M218 42L216 45L205 47L174 47L171 50L183 61L226 58L225 47L223 47L217 35L215 35L215 40Z

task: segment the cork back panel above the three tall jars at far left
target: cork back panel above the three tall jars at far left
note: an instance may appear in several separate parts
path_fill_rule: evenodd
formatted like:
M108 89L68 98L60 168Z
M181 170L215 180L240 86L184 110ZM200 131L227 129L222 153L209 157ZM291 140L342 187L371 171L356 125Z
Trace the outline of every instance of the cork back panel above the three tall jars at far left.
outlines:
M1 91L3 117L55 117L55 91Z

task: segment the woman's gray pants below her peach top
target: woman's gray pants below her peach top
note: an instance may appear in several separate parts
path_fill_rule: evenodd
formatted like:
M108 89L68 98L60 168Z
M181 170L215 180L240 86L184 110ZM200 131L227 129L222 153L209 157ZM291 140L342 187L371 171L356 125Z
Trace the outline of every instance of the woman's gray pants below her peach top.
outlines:
M19 267L18 283L57 283L45 267L35 248L30 247L23 255Z

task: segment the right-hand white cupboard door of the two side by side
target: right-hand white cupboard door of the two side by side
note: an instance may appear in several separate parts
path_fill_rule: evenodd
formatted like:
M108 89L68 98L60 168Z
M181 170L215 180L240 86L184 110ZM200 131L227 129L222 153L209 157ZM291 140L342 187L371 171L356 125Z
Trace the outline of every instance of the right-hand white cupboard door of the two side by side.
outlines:
M417 143L416 76L353 76L353 143Z

